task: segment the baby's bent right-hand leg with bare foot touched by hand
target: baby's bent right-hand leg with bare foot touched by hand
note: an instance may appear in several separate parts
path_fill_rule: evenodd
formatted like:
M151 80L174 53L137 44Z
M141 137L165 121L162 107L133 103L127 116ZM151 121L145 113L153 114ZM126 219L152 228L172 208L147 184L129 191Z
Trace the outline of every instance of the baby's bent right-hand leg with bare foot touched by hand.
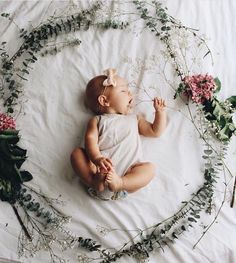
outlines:
M138 163L122 177L112 171L107 175L106 182L112 192L126 190L132 193L147 185L154 175L155 167L152 163Z

